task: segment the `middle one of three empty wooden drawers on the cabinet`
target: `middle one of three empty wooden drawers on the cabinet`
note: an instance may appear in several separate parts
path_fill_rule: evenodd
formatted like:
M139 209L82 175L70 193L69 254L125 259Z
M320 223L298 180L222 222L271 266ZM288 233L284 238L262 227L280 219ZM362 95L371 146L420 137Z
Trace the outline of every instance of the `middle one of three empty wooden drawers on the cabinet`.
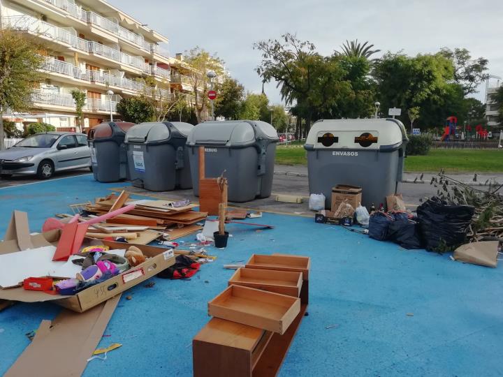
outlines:
M299 297L302 273L245 267L237 269L229 279L228 285L232 284Z

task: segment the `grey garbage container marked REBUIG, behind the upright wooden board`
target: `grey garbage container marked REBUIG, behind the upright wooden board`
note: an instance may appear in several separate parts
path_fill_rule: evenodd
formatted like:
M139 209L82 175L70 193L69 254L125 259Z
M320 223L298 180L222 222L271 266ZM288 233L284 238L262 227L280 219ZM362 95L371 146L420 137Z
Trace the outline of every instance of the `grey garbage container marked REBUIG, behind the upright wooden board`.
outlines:
M205 148L205 177L228 178L228 200L247 202L268 198L279 138L265 121L206 121L194 127L187 146L194 195L199 195L198 147Z

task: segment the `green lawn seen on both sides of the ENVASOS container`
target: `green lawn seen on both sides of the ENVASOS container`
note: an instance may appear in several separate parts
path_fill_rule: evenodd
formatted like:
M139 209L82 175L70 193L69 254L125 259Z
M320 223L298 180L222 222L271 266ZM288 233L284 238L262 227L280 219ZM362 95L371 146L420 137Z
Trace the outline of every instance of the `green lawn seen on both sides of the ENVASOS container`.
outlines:
M307 165L302 147L279 145L276 163ZM503 172L503 151L496 149L431 149L427 156L408 156L404 170L409 172Z

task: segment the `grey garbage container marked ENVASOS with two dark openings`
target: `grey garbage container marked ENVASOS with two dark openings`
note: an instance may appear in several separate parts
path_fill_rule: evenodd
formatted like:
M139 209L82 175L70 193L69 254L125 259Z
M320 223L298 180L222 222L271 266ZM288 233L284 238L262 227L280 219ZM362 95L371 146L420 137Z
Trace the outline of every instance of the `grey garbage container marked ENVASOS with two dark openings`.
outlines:
M330 208L332 188L363 188L362 205L386 206L402 181L407 134L397 119L337 119L313 124L307 150L309 193L323 193Z

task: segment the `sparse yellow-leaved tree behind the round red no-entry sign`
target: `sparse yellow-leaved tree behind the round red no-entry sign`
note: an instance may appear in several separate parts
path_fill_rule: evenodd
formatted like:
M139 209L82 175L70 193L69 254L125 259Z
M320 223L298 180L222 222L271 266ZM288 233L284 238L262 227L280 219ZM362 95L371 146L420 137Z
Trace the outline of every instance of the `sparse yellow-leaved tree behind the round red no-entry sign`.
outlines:
M207 109L209 100L207 92L210 90L210 80L207 77L208 71L213 71L217 77L224 75L224 61L216 54L210 54L201 47L194 47L185 52L185 64L188 66L185 76L189 77L192 92L194 94L196 113L198 121L201 122L202 114Z

